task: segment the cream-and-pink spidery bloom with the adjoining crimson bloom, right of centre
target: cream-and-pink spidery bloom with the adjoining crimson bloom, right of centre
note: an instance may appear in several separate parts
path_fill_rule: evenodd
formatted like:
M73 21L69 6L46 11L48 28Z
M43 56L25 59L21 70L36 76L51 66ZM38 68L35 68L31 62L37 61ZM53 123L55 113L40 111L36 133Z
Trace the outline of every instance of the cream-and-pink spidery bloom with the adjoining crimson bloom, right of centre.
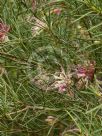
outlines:
M55 77L55 88L58 89L59 93L63 93L71 90L72 86L76 86L77 89L85 87L86 82L92 82L95 73L95 62L89 62L87 65L77 65L76 68L71 72L65 73L62 70L59 76Z

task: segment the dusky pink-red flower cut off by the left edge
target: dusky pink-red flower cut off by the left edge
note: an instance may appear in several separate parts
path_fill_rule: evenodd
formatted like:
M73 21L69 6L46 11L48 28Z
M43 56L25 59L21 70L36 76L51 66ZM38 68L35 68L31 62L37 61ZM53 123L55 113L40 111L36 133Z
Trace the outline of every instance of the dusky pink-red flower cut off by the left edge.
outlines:
M10 30L9 26L0 22L0 41L5 40L5 36L9 30Z

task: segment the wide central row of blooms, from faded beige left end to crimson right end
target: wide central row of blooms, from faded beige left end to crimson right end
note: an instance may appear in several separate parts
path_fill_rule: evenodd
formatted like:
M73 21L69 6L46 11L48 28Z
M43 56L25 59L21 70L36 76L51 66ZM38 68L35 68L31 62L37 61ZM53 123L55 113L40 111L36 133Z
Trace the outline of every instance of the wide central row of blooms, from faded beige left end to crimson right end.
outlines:
M73 89L80 90L89 86L93 82L95 74L95 62L87 62L83 65L69 66L69 69L64 70L61 66L60 72L48 74L40 68L40 73L33 78L33 82L38 88L48 91L57 89L59 93L67 92L73 96Z

